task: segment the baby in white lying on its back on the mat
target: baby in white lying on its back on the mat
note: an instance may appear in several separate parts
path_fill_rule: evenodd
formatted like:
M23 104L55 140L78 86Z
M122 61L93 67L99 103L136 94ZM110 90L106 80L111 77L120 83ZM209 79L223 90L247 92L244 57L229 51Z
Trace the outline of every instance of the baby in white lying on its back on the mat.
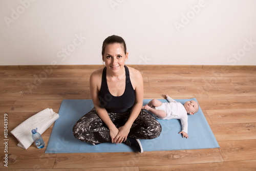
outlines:
M179 134L182 134L182 137L188 138L187 135L187 114L194 115L198 112L199 105L195 100L186 101L185 104L175 101L170 98L168 94L165 94L164 97L169 102L162 103L157 99L153 99L145 106L142 106L142 109L145 109L153 114L154 117L159 119L180 119L182 131Z

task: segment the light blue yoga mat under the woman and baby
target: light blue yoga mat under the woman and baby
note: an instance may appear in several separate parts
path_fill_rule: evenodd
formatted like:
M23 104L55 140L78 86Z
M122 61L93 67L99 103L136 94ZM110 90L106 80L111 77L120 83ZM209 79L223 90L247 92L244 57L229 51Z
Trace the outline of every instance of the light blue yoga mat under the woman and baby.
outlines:
M143 105L147 104L150 100L144 99ZM159 100L167 102L165 99ZM196 100L196 98L175 100L184 104L186 101ZM92 145L91 143L82 142L73 136L73 125L78 119L88 113L93 106L92 100L63 100L59 109L59 119L54 123L45 153L135 152L135 148L123 143ZM144 152L220 147L200 106L199 111L195 115L188 115L188 139L182 138L181 134L178 134L181 131L180 120L158 119L158 121L162 125L160 136L152 140L140 140Z

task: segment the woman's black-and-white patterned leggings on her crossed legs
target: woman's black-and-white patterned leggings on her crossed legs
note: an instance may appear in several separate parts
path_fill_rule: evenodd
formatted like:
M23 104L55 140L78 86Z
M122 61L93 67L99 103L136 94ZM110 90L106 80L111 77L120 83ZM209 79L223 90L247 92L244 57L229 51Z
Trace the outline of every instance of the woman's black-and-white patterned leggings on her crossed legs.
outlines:
M125 124L130 112L108 114L118 128ZM128 137L154 139L160 135L161 131L160 123L152 115L141 110L131 127ZM76 122L73 127L73 134L75 138L89 143L111 142L108 126L99 118L94 108Z

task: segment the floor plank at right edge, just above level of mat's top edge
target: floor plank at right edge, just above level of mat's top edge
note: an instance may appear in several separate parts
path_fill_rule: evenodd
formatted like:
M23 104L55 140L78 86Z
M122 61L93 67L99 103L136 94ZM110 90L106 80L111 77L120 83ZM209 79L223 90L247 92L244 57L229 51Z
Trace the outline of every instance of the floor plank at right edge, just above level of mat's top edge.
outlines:
M209 97L256 96L256 86L204 87Z

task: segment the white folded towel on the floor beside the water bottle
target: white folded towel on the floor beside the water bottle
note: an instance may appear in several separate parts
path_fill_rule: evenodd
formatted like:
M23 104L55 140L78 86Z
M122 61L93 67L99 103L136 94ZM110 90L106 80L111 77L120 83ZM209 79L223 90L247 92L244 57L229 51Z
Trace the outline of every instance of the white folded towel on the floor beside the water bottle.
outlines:
M24 122L20 123L11 133L17 138L19 147L28 149L34 142L32 139L32 130L37 127L37 132L42 134L59 118L59 114L52 109L45 109L31 116Z

